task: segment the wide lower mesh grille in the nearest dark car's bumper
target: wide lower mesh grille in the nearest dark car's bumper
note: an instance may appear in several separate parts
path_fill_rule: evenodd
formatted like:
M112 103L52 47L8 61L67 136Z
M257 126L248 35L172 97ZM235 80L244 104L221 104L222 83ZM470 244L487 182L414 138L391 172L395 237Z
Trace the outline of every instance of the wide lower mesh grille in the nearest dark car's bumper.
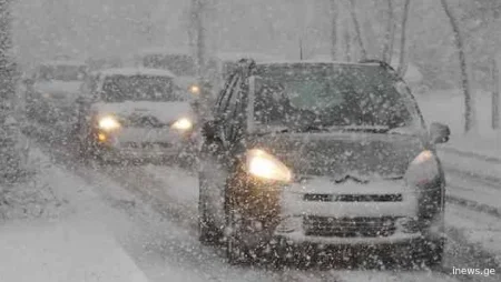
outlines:
M327 218L304 216L303 229L306 235L314 236L390 236L395 232L393 216L381 218Z

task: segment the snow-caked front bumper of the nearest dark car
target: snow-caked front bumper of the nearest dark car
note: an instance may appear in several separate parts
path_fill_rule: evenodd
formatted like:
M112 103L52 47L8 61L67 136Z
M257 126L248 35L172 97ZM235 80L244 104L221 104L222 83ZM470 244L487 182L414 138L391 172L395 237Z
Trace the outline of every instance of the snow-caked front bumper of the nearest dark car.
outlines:
M282 191L278 219L274 219L275 224L261 224L273 226L263 231L272 241L376 246L444 238L443 212L431 220L420 219L420 199L403 181L333 185L328 180L316 179L274 189ZM253 241L263 242L249 240Z

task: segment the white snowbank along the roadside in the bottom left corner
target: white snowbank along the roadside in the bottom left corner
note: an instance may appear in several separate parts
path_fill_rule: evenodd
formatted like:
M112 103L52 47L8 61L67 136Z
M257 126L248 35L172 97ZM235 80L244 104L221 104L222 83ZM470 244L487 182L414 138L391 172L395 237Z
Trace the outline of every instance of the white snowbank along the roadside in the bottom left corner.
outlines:
M3 193L0 281L147 281L112 234L127 219L37 149L31 163L33 181Z

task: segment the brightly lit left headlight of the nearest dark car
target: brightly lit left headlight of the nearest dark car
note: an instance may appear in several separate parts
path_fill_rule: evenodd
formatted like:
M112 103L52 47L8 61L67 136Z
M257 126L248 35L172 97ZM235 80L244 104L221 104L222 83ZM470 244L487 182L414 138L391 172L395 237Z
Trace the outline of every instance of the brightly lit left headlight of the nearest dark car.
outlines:
M247 169L255 177L289 182L292 180L291 170L272 154L253 149L247 152Z

